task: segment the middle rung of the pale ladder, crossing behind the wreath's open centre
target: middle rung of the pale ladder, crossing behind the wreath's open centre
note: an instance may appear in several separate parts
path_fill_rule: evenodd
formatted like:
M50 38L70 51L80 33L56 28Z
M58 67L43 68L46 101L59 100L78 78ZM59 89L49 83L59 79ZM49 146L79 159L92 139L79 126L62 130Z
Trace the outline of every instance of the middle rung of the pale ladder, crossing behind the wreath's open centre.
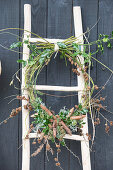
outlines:
M82 88L78 86L48 86L48 85L34 85L35 90L49 90L49 91L83 91Z

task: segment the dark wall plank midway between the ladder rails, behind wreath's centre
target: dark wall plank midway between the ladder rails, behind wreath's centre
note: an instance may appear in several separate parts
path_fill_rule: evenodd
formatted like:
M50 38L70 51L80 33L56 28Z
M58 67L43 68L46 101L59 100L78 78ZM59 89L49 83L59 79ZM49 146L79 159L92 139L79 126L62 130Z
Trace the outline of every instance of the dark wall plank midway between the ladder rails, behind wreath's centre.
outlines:
M71 36L71 15L72 15L72 0L48 0L48 38L66 39ZM60 56L54 59L47 67L47 84L48 85L67 85L70 86L70 64L65 65L65 61L60 59ZM48 92L54 95L66 95L64 92ZM69 93L68 93L69 94ZM70 98L47 97L46 105L51 107L57 114L63 106L70 108ZM69 146L69 142L66 142ZM52 144L55 150L55 146ZM55 153L56 154L56 153ZM55 166L54 157L48 155L50 161L45 160L45 170L58 169ZM69 169L69 152L65 147L62 147L59 160L63 169ZM51 163L52 162L52 163Z

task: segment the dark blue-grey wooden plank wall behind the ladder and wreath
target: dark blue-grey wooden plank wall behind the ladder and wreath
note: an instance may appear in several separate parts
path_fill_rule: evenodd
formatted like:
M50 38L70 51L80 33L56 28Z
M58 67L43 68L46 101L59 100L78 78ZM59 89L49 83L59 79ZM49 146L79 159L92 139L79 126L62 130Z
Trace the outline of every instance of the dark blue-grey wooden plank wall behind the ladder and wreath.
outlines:
M99 33L109 34L113 30L113 1L112 0L1 0L0 1L0 29L6 27L23 28L24 4L32 5L32 32L42 37L48 38L68 38L74 35L73 30L73 5L81 6L84 31L91 28L100 17L98 24L90 33L90 41L97 39ZM20 35L19 30L13 33ZM15 37L9 34L0 34L0 44L9 47ZM92 50L96 50L93 47ZM0 60L2 61L2 75L0 77L0 121L5 119L11 109L19 106L19 102L8 104L10 98L6 96L20 94L20 85L16 83L18 89L9 86L12 75L19 69L16 60L21 55L3 49L0 46ZM105 50L104 55L96 56L100 61L113 69L113 52ZM110 72L102 66L93 62L91 70L94 81L102 86ZM43 70L39 77L40 84L50 85L76 85L76 77L71 73L71 66L67 67L63 60L57 56ZM107 96L106 105L113 111L113 78L109 81L103 91ZM52 92L52 94L63 95L64 93ZM13 97L14 98L14 97ZM63 107L71 108L77 103L77 96L68 98L54 98L44 96L47 106L51 106L56 112ZM103 114L113 120L113 115L103 112ZM91 123L89 122L89 129ZM92 170L112 170L113 169L113 128L107 135L104 130L105 121L101 120L101 125L96 128L96 138L93 151L91 152ZM0 170L21 170L21 115L10 120L6 125L0 126ZM80 142L68 141L67 146L81 159ZM54 146L53 146L54 147ZM31 152L36 149L31 147ZM35 158L31 158L31 170L57 170L53 162L53 157L48 155L50 161L47 162L44 150ZM61 165L64 170L82 170L77 159L75 159L65 148L62 148L60 156Z

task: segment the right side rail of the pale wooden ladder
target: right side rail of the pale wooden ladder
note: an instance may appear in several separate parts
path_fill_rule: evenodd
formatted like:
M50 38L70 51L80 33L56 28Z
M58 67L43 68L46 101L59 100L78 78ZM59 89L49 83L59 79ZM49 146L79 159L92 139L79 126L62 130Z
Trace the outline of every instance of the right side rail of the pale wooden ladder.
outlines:
M81 16L81 8L79 6L73 7L73 15L74 15L74 28L75 28L75 36L79 37L79 41L83 44L83 28L82 28L82 16ZM81 46L81 50L83 50L83 46ZM81 63L84 64L84 59L82 56L79 56ZM82 72L80 72L80 76L77 76L78 87L84 89L85 81ZM78 92L78 102L82 102L82 93ZM83 170L91 170L91 162L90 162L90 150L89 150L89 141L87 140L86 133L88 133L88 119L87 115L83 119L85 125L83 125L82 131L84 134L84 141L81 141L81 153L82 153L82 165Z

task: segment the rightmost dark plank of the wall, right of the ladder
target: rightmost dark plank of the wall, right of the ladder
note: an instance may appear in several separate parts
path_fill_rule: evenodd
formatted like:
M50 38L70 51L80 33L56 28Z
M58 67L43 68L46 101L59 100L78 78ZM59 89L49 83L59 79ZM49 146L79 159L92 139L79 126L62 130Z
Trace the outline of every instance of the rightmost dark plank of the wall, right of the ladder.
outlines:
M110 34L113 31L113 1L99 0L99 17L98 23L98 35L99 34ZM113 49L104 49L104 54L98 54L97 59L107 65L113 70ZM97 64L97 84L102 86L110 76L110 72L104 69L103 66ZM103 103L107 106L108 110L113 111L113 76L108 82L105 90L103 90L102 96L106 97L106 102ZM105 117L113 120L113 115L101 110L100 111ZM101 118L101 117L100 117ZM101 125L96 128L96 153L95 153L95 169L106 170L112 169L112 157L113 157L113 128L110 127L109 135L105 133L106 121L101 118Z

